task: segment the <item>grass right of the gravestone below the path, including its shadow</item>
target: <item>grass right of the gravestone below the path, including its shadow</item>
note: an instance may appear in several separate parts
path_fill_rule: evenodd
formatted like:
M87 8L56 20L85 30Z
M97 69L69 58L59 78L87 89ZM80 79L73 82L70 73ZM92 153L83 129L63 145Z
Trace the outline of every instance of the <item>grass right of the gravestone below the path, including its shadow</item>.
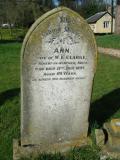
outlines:
M90 122L102 126L111 118L120 118L120 59L99 55L94 80Z

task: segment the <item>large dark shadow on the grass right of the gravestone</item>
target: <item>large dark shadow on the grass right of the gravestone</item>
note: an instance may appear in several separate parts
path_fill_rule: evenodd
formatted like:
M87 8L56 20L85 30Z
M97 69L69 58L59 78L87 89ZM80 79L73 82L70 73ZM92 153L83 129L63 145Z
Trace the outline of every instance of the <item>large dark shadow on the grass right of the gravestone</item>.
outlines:
M90 108L90 128L97 123L99 127L120 109L120 88L93 102ZM119 115L120 116L120 115Z

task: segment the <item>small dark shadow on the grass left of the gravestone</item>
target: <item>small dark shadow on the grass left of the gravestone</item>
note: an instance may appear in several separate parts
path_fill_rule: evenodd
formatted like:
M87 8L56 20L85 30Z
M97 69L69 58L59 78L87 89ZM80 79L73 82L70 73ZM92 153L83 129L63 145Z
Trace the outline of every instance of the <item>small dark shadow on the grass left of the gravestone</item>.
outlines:
M20 93L20 88L13 88L0 93L0 105L3 105L5 101L10 100L11 98L18 96L19 93Z

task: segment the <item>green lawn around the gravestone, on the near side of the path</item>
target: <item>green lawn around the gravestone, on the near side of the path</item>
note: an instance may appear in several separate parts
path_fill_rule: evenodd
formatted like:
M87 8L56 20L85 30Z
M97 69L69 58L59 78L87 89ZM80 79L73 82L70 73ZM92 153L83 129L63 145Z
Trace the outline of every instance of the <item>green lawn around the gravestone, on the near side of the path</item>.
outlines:
M0 43L0 160L12 160L13 138L20 138L21 43ZM94 80L90 124L100 127L120 118L120 59L99 55ZM81 158L80 158L81 157ZM62 155L41 155L40 160L99 160L96 146ZM38 159L37 159L38 160Z

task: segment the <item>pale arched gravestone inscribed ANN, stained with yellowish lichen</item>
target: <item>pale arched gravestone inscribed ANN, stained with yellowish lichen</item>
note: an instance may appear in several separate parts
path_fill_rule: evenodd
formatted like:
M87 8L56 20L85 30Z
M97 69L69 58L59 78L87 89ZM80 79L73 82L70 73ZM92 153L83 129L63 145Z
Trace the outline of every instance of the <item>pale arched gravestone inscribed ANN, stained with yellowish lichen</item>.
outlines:
M21 148L63 152L84 143L96 55L89 25L68 8L33 24L21 56Z

